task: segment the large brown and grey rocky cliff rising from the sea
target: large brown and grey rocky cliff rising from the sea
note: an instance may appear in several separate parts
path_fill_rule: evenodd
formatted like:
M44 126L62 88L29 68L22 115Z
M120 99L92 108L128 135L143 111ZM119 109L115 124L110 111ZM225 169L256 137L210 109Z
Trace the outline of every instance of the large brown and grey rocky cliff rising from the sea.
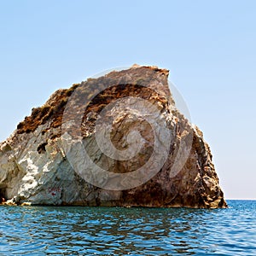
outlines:
M201 131L168 71L131 67L57 90L0 144L9 204L226 207Z

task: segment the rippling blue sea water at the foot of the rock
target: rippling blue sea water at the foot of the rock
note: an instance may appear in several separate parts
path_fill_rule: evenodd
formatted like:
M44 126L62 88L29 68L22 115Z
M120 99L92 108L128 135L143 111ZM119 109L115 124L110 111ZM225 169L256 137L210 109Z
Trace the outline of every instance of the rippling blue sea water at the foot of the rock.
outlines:
M228 204L0 207L0 255L256 255L256 201Z

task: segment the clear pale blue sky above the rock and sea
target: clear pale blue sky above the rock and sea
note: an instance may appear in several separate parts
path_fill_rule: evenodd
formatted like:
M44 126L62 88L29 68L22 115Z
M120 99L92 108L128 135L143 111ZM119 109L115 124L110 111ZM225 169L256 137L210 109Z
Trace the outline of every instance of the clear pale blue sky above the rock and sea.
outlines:
M0 32L0 140L56 89L166 67L226 198L256 199L256 1L0 0Z

